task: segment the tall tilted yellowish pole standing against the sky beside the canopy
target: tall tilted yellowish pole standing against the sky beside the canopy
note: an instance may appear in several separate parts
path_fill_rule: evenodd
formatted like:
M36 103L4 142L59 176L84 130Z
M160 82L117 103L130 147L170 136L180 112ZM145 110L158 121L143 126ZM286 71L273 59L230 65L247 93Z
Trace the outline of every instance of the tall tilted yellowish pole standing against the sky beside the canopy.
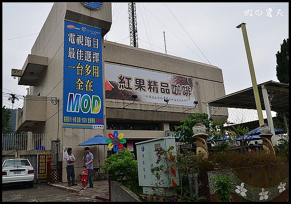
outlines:
M251 49L250 49L250 45L249 45L247 34L246 34L245 23L238 25L236 28L238 29L242 28L242 37L243 37L246 57L247 57L247 61L248 61L249 69L251 73L251 79L252 79L253 90L254 90L254 95L255 95L255 102L256 102L257 112L259 116L259 125L261 126L264 124L264 119L263 119L262 107L259 100L258 85L257 85L256 74L255 74L254 64L253 64L252 55L251 55Z

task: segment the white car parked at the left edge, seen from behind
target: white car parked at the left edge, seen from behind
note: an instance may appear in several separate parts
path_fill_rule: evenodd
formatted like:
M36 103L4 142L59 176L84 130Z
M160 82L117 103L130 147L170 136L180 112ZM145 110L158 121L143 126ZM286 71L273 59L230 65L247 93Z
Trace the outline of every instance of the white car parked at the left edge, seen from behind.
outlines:
M33 186L34 170L28 159L9 159L2 163L2 184L27 183Z

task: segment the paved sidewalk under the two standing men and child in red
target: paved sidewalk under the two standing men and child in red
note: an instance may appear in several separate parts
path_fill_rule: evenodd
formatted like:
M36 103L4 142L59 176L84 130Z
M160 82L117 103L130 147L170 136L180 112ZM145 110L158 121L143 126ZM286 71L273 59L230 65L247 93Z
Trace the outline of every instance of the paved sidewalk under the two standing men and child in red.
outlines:
M93 188L87 188L81 190L81 182L78 183L78 186L68 186L67 183L51 183L49 184L55 188L70 190L80 194L81 196L95 198L99 201L109 201L109 187L108 180L97 180L93 181Z

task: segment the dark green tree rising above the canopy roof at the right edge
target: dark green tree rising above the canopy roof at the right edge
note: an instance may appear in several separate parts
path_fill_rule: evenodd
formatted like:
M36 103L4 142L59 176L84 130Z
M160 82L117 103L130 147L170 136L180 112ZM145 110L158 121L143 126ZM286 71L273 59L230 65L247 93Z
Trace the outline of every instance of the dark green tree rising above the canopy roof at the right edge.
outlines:
M279 82L289 84L289 38L283 40L280 50L276 54L276 76Z

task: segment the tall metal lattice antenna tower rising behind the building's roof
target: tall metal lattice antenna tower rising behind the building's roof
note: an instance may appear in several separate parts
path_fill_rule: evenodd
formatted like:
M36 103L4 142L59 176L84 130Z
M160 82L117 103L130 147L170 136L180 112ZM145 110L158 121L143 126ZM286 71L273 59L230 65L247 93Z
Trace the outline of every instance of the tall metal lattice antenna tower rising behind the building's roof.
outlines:
M129 2L129 32L130 32L130 45L133 47L138 47L136 12L134 2Z

